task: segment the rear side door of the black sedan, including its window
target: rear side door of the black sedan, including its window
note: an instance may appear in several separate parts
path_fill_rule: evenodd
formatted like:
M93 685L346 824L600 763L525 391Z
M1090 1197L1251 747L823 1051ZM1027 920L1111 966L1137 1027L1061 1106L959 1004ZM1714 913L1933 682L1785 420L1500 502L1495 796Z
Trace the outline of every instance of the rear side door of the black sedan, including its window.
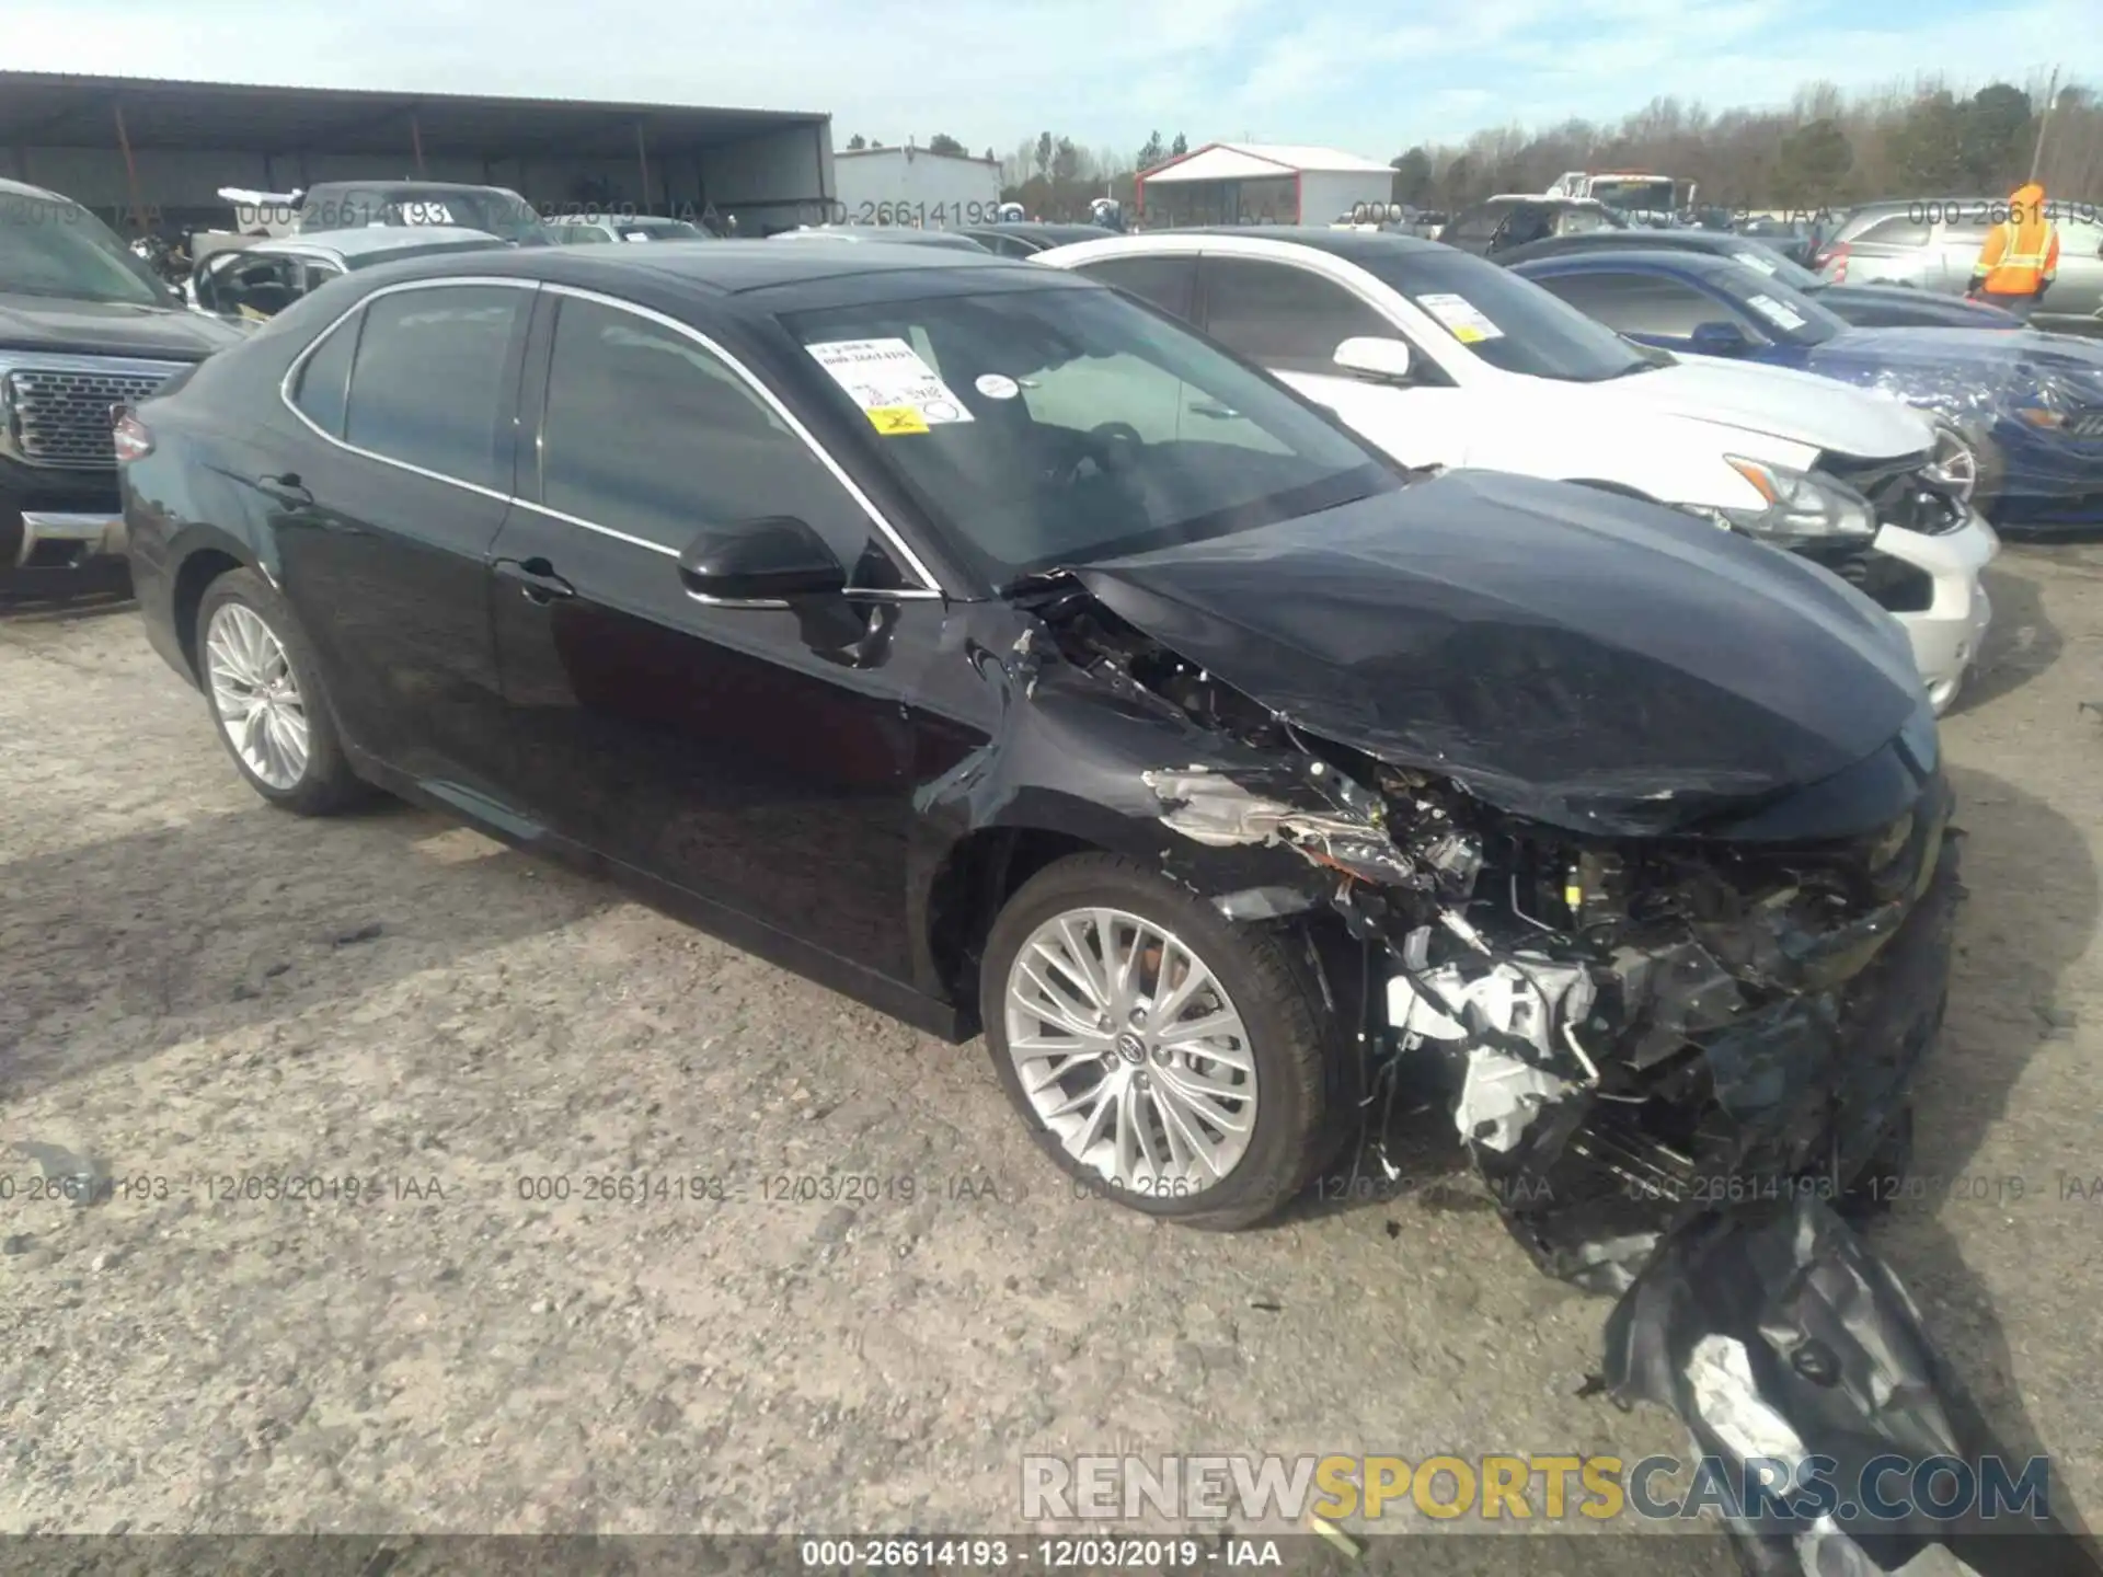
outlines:
M284 593L322 650L351 742L496 814L511 751L488 557L509 511L534 286L418 282L368 296L294 364L315 442L278 500Z

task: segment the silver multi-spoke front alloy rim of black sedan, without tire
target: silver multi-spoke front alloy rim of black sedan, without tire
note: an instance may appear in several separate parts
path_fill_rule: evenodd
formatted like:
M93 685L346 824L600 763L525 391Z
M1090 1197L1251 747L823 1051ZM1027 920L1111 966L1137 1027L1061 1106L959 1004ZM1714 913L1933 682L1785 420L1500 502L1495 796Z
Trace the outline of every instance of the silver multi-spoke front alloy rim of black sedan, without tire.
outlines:
M1007 1056L1039 1121L1112 1186L1165 1199L1224 1180L1255 1131L1255 1053L1211 967L1119 908L1070 908L1007 971Z

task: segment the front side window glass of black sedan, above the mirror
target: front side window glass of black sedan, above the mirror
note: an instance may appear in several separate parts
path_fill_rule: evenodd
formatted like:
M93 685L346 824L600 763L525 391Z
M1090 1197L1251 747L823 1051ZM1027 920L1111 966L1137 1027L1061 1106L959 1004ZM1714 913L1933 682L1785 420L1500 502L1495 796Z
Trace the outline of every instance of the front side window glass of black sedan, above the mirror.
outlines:
M850 572L873 570L860 505L751 385L677 330L566 299L545 429L549 509L673 551L702 526L795 515Z

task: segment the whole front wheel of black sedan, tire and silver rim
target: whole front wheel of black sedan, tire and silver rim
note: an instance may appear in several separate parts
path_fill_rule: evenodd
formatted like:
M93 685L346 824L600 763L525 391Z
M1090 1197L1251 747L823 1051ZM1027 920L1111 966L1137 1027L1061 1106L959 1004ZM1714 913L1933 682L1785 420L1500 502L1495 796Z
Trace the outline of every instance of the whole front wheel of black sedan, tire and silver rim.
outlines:
M1327 1161L1335 1028L1277 934L1083 854L1009 898L980 967L986 1049L1077 1196L1237 1230Z

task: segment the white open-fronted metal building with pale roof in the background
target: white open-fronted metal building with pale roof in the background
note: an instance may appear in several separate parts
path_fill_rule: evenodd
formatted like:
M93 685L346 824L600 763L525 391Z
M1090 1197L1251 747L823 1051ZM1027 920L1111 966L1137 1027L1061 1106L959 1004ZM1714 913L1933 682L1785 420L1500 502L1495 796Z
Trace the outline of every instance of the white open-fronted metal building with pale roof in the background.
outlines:
M1138 179L1148 229L1331 225L1361 202L1384 204L1392 193L1394 170L1377 160L1287 143L1205 143Z

